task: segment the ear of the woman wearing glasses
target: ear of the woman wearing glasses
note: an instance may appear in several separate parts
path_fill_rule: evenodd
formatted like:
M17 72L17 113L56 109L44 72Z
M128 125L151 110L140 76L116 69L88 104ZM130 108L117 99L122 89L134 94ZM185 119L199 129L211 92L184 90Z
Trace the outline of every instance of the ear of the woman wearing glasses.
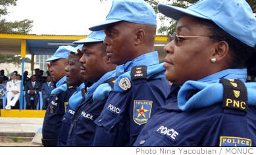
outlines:
M213 51L212 58L216 58L216 62L220 62L223 60L227 60L228 54L230 54L228 43L226 41L219 41L215 44L215 49Z

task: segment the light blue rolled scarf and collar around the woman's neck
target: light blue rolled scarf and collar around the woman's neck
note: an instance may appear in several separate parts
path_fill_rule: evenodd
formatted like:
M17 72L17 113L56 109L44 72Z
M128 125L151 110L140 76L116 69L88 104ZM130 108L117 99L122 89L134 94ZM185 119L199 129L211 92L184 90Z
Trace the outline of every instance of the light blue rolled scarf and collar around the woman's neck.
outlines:
M178 92L178 106L183 111L203 108L222 101L223 86L220 79L240 79L245 82L246 69L228 69L207 76L198 81L186 81ZM247 89L249 89L247 87ZM197 90L192 97L187 99L188 93Z

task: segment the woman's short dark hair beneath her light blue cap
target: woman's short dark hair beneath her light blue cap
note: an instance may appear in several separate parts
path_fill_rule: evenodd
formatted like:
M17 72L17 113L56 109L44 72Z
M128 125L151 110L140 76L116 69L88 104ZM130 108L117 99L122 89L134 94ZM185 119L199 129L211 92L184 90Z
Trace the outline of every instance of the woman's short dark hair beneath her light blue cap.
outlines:
M246 45L242 41L236 39L228 32L225 32L211 20L194 17L195 21L199 24L207 26L211 33L211 38L219 41L226 41L230 47L230 51L233 53L233 60L230 68L247 68L249 58L256 53L253 47ZM239 31L239 30L238 30Z

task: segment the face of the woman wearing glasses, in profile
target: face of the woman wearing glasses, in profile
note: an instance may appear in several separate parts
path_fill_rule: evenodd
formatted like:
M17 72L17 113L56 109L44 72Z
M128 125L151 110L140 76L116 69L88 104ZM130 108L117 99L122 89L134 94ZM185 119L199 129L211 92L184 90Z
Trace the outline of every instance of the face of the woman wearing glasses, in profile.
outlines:
M210 75L214 40L209 37L186 37L209 36L207 27L196 22L192 16L184 15L178 20L176 34L180 37L164 47L167 53L164 64L166 79L182 85L185 81Z

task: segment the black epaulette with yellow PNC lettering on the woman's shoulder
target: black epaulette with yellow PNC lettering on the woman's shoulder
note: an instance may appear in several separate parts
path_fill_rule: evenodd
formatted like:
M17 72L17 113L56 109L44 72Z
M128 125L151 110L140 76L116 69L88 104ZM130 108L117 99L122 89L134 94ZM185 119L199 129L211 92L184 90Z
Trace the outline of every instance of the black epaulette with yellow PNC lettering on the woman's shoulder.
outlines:
M240 79L220 79L224 92L222 105L224 108L247 112L247 89Z

